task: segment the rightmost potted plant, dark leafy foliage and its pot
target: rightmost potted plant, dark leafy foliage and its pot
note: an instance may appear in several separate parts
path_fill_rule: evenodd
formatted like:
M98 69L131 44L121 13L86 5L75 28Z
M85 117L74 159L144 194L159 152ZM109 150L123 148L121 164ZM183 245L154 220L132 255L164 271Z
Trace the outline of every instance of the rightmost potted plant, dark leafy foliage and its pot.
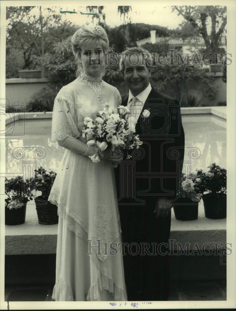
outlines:
M226 217L226 169L215 163L208 166L208 172L202 172L200 182L196 184L202 193L205 216L210 219Z

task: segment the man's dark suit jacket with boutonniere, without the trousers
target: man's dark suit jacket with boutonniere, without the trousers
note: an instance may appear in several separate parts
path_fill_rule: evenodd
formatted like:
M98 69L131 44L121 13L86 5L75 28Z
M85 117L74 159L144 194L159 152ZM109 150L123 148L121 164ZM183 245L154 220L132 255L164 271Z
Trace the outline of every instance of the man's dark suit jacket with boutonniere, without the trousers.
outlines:
M127 105L128 95L122 96L124 106ZM148 118L142 116L145 109L150 112ZM152 87L135 129L143 142L139 147L139 155L133 149L134 156L131 159L135 160L136 197L145 196L156 201L158 196L165 196L174 200L182 172L185 143L179 102ZM118 165L118 198L123 182L120 178Z

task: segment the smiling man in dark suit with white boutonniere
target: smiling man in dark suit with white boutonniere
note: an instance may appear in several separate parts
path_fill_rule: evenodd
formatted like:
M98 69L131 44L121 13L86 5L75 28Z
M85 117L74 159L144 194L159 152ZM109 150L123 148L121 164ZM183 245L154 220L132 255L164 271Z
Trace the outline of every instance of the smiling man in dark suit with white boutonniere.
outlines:
M184 158L180 106L150 85L152 56L147 50L134 47L122 54L120 71L129 87L122 105L129 108L143 142L138 151L133 149L136 155L116 168L128 300L167 300L171 200ZM125 171L132 172L129 181Z

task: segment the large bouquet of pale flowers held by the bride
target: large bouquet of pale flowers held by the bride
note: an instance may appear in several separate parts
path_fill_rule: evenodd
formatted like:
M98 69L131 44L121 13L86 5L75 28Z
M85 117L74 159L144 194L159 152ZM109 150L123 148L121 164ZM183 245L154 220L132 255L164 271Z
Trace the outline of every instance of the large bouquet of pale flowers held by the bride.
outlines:
M139 141L139 135L134 134L136 121L125 106L118 106L118 113L115 114L110 104L106 103L105 108L97 113L95 120L85 117L84 124L82 137L87 139L88 146L94 146L97 150L93 156L89 156L95 163L103 158L102 151L106 148L138 149L143 143Z

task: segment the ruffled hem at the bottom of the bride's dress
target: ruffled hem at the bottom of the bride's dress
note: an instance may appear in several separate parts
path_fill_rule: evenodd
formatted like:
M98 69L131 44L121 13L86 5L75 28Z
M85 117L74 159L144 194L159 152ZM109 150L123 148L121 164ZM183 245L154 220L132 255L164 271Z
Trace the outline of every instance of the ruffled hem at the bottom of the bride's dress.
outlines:
M108 290L115 301L127 301L126 291L117 286L113 280L106 274L100 274L97 281L92 284L84 295L83 301L94 301L99 297L99 292ZM55 301L74 301L72 288L62 279L54 285L52 299Z

